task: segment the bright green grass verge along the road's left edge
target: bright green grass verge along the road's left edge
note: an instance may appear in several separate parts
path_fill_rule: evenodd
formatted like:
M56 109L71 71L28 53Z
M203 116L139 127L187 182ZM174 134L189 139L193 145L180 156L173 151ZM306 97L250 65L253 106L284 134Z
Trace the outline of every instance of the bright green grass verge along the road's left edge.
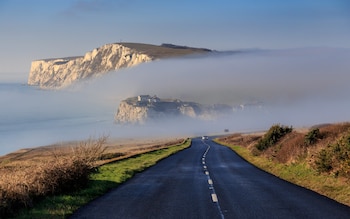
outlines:
M34 208L20 212L15 218L67 218L79 207L117 187L136 173L190 145L191 140L188 139L180 145L105 164L91 175L86 188L69 194L47 196Z

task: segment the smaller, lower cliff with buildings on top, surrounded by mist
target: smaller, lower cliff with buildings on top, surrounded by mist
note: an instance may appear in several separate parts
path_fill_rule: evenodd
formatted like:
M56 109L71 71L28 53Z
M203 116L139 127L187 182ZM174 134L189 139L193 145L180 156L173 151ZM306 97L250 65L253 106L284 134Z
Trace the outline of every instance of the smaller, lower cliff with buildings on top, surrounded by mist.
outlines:
M156 96L140 95L120 102L114 121L119 124L144 124L147 121L172 117L211 120L223 113L232 112L228 105L201 105L182 102L178 99L160 99Z

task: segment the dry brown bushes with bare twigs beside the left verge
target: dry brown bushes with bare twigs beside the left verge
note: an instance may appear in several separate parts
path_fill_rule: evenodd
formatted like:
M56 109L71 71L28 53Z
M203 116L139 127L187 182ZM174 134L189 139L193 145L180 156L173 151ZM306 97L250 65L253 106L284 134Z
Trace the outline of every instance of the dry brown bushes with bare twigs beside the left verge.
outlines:
M50 160L27 167L3 167L0 170L0 218L21 208L29 208L47 195L62 194L87 185L103 151L106 137L82 141L70 156L59 151Z

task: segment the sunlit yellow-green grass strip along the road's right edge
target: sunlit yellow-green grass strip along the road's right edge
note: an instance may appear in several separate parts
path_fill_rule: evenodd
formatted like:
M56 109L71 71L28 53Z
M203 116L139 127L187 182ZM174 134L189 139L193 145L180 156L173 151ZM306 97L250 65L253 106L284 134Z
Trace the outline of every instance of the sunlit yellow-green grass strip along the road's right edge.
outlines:
M228 146L239 156L266 172L350 206L350 186L348 182L329 175L319 174L315 169L308 167L305 161L288 165L281 164L265 157L255 156L245 147L226 144L218 140L216 142Z

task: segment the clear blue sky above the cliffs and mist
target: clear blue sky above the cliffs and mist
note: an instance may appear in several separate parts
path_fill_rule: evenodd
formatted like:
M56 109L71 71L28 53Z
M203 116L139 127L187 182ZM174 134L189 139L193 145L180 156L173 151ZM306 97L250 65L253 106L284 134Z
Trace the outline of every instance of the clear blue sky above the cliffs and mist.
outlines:
M0 0L0 81L113 42L350 48L348 0Z

